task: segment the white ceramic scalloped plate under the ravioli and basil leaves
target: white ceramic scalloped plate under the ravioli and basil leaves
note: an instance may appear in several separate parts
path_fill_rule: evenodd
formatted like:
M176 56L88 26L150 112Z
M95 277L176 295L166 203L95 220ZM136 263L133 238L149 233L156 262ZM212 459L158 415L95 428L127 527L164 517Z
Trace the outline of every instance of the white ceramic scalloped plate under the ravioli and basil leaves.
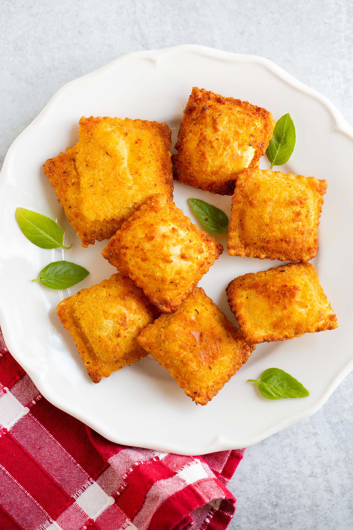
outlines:
M193 85L270 110L290 112L296 146L280 169L328 180L320 224L320 250L313 260L337 313L339 328L285 342L261 344L206 407L196 406L168 372L147 357L104 379L90 382L70 335L55 313L59 301L109 277L115 269L101 256L105 242L83 249L42 171L43 162L77 140L81 116L119 116L167 121L175 143ZM262 167L268 167L266 157ZM15 140L0 179L0 322L12 355L43 395L106 438L160 451L202 454L241 448L306 418L329 398L353 367L352 234L353 131L323 96L270 61L200 46L126 55L64 86ZM187 198L198 197L230 213L230 197L175 183L176 205L193 218ZM70 251L42 250L17 227L17 206L57 218ZM193 220L195 220L193 218ZM223 236L216 239L226 247ZM50 261L65 258L90 275L67 291L31 283ZM236 276L278 262L230 257L225 250L200 285L228 318L225 287ZM279 367L294 375L311 396L269 401L247 383Z

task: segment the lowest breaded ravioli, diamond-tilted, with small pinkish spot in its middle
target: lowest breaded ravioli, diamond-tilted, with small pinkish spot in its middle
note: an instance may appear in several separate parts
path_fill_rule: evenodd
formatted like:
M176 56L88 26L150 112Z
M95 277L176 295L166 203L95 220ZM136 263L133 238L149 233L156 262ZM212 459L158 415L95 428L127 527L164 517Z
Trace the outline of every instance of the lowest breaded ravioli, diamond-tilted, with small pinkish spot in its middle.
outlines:
M179 309L144 328L138 343L193 401L206 405L255 349L196 287Z

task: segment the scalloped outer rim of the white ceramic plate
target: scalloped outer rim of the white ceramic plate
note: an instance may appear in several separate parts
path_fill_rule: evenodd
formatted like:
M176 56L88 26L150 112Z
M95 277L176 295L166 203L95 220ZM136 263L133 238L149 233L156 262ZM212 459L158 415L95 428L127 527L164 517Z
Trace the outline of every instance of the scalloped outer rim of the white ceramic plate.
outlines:
M170 54L172 52L176 52L179 50L180 51L181 50L192 51L194 53L204 55L206 57L212 57L212 58L220 59L220 60L227 60L227 61L233 61L233 62L244 61L244 62L256 63L258 65L264 66L265 68L270 70L270 72L272 72L278 78L280 78L282 81L285 81L289 86L294 87L298 91L309 94L310 96L312 96L313 99L319 101L323 105L323 107L330 113L332 120L334 122L334 131L347 135L348 138L351 139L353 142L353 129L349 126L348 122L342 116L342 114L336 108L336 106L326 96L322 95L318 91L315 91L314 89L311 89L311 87L305 85L301 81L298 81L294 76L292 76L291 74L288 74L283 68L280 68L275 63L273 63L273 61L270 61L267 58L256 56L256 55L237 54L237 53L233 53L229 51L222 51L222 50L217 50L214 48L209 48L209 47L204 47L204 46L199 46L199 45L181 45L181 46L174 46L170 48L162 48L162 49L156 49L156 50L135 51L130 54L122 55L121 57L116 58L115 60L111 61L105 66L102 66L101 68L98 68L91 73L85 74L84 76L80 76L76 78L75 80L66 83L52 96L50 101L46 104L46 106L42 109L42 111L38 114L38 116L35 117L34 120L22 131L22 133L16 137L16 139L14 140L14 142L8 149L5 159L4 159L3 167L0 173L0 192L5 182L4 175L7 173L8 166L11 164L12 152L14 151L14 148L17 142L23 135L27 134L33 127L35 127L35 125L37 125L37 123L48 112L51 105L55 103L55 101L60 97L60 94L63 91L67 90L69 86L72 86L73 84L82 81L84 78L98 76L103 71L105 72L105 70L113 68L115 65L117 65L122 60L144 57L144 58L150 58L157 62L158 59L164 58L167 54ZM83 411L82 409L76 407L73 403L66 401L64 398L62 398L61 396L58 396L55 392L53 392L52 388L48 385L48 382L46 380L46 375L48 373L49 366L44 363L34 363L33 361L28 361L28 359L25 358L23 352L17 350L14 334L11 331L11 323L6 313L6 306L3 303L1 297L0 297L0 323L1 323L1 329L4 335L4 340L5 340L8 350L11 351L12 356L26 370L26 372L29 374L29 376L33 380L34 384L38 387L38 390L40 391L40 393L50 403L52 403L59 409L67 412L68 414L71 414L71 416L74 416L78 420L86 423L86 425L96 430L99 434L101 434L107 439L114 441L115 443L119 443L123 445L134 445L137 447L150 447L150 448L156 449L157 451L166 451L170 453L197 455L197 454L212 453L216 451L224 451L228 449L241 449L243 447L254 445L258 443L259 441L264 440L265 438L275 434L276 432L282 429L285 429L286 427L289 427L291 425L294 425L294 423L297 423L298 421L308 418L309 416L317 412L322 407L322 405L328 400L332 392L336 390L336 388L341 383L341 381L353 369L353 358L352 358L345 365L345 367L340 369L336 373L336 375L333 376L325 392L311 407L305 409L302 412L295 413L292 416L289 416L281 421L275 422L268 429L257 434L256 436L252 436L246 440L242 439L241 443L239 443L240 440L227 440L222 435L215 434L214 441L212 443L204 445L204 446L200 446L199 444L198 450L195 451L195 446L188 445L188 442L185 442L183 444L183 447L180 447L180 444L168 444L168 446L165 446L164 444L158 445L155 443L155 441L152 442L146 439L146 435L145 435L144 440L141 442L141 445L139 445L138 443L136 443L135 440L132 442L129 436L125 436L124 434L116 435L97 417L90 416L90 414L88 414L86 411ZM44 368L44 370L41 372L39 368L41 369Z

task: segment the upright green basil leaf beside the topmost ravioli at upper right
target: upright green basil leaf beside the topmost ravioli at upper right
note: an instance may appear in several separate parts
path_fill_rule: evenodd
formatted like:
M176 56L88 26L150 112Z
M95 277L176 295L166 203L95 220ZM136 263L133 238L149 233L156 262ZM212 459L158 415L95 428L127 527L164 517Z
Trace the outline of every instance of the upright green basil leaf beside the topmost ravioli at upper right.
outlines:
M295 146L295 127L289 114L284 114L277 121L273 137L270 139L266 149L266 155L271 163L271 169L274 165L282 165L288 162Z

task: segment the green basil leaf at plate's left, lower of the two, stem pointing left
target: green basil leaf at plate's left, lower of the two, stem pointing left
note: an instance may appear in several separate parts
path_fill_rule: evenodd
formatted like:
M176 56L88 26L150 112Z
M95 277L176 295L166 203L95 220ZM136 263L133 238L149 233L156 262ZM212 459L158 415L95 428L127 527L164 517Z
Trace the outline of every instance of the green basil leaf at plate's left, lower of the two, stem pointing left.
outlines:
M32 281L40 281L42 285L51 289L67 289L78 284L88 275L88 270L76 263L53 261L40 271L38 278Z

